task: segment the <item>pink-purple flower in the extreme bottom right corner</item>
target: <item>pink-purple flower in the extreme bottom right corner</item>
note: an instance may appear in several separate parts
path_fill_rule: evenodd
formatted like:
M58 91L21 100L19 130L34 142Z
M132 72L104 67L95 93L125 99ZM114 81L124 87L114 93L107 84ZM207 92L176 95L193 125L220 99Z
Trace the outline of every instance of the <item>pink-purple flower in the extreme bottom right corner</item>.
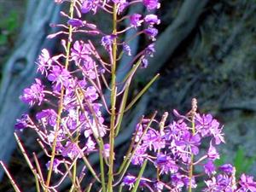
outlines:
M240 188L237 191L244 191L244 192L255 192L256 191L256 182L253 181L252 176L247 176L245 174L241 174L240 177Z

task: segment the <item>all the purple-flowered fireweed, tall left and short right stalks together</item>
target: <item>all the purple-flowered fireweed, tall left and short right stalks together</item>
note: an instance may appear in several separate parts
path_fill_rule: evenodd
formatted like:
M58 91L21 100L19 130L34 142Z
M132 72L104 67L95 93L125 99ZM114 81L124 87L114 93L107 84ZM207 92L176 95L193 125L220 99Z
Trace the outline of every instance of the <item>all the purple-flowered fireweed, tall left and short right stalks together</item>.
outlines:
M119 135L124 113L158 77L156 75L127 104L131 79L138 67L148 66L148 57L154 56L154 44L148 44L131 59L133 65L122 82L116 81L117 62L123 54L131 55L129 43L136 36L145 35L154 42L158 33L155 26L160 24L160 20L151 12L159 9L160 3L158 0L55 0L55 3L70 4L68 14L61 11L67 23L52 25L61 27L61 31L48 36L66 36L66 39L61 40L65 51L59 55L50 55L47 49L43 49L36 62L38 73L45 76L51 86L48 88L40 79L35 79L34 84L20 96L20 100L30 106L48 103L47 106L55 107L45 108L32 117L23 114L15 125L16 131L27 128L36 131L38 144L49 157L49 162L42 166L33 153L32 164L15 134L35 177L37 191L58 191L68 177L72 183L69 191L90 191L94 185L100 186L98 191L102 192L135 192L141 189L157 192L192 191L196 190L199 182L205 183L203 191L256 191L253 177L242 174L236 180L234 166L224 164L215 167L214 161L219 159L216 146L224 143L223 126L211 114L197 113L195 99L191 111L186 115L173 111L177 119L175 121L167 120L167 112L161 119L156 118L156 113L150 118L142 117L131 138L130 148L123 155L124 159L115 162L114 155L117 152L114 152L114 142ZM148 15L123 15L126 9L137 3L143 3ZM82 19L82 15L96 15L100 10L112 15L111 34ZM123 20L129 20L130 25L122 29L119 23ZM121 37L128 30L137 30L137 34L124 42ZM76 39L74 35L77 33L100 38L108 61L103 60L93 42ZM103 94L106 89L111 92L110 99ZM111 101L110 107L107 100ZM102 108L108 112L110 123L105 122ZM200 151L203 142L208 143L205 153ZM98 155L100 171L90 165L90 154ZM3 162L1 165L15 191L20 191ZM130 174L131 166L139 171ZM42 167L47 169L46 175ZM201 168L201 173L195 173L195 167ZM155 172L151 177L143 177L146 169ZM53 181L53 174L59 175L58 181ZM89 174L91 180L86 177Z

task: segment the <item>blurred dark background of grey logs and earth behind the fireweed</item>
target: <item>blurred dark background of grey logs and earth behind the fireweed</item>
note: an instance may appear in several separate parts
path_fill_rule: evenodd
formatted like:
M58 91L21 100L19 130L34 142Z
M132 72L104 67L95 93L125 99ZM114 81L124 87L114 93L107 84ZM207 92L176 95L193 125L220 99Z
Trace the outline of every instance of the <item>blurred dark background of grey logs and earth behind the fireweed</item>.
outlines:
M0 0L0 159L24 191L33 183L27 179L32 174L24 176L29 171L13 138L15 119L28 111L18 97L36 76L40 49L59 50L59 39L45 40L52 32L49 23L60 20L59 9L51 0ZM126 117L128 133L138 113L162 114L173 108L187 113L196 97L200 112L212 113L224 125L220 161L235 164L238 174L256 176L256 1L162 0L157 14L161 24L156 53L137 75L131 96L155 73L160 79ZM108 30L110 20L102 15L90 19L104 20L99 25ZM140 49L146 41L141 37L132 46ZM22 139L28 151L39 151L32 132L24 132ZM127 140L119 137L119 143ZM5 176L0 191L13 191Z

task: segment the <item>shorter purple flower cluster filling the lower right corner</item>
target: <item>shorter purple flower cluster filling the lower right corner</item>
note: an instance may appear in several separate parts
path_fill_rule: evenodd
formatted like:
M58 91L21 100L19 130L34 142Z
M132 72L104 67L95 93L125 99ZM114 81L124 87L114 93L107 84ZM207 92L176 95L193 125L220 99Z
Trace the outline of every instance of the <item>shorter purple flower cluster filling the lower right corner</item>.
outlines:
M131 163L142 166L148 160L156 169L155 177L142 177L142 188L158 192L165 189L183 191L184 188L196 188L197 183L204 180L207 187L203 191L255 191L256 182L253 177L242 174L236 182L235 167L224 164L217 168L214 165L214 161L219 159L216 145L224 143L224 134L223 126L211 114L195 113L191 117L183 116L176 110L174 114L177 120L168 125L157 119L150 123L149 119L143 119L137 124L133 146L135 153L131 157ZM200 151L203 149L203 142L209 143L205 152ZM203 174L189 175L189 172L193 173L195 166L199 170L201 168ZM160 178L165 176L169 176L169 181L161 181ZM128 174L124 177L123 184L132 189L136 178Z

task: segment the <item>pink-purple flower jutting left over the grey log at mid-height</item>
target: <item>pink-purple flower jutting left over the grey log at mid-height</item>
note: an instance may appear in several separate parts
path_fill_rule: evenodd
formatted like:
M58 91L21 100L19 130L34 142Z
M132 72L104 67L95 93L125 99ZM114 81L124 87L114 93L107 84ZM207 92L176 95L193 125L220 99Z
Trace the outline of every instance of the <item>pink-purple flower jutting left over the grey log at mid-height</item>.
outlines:
M35 79L36 83L32 84L30 88L23 90L23 94L20 96L22 102L28 103L30 106L38 102L38 105L44 101L44 85L40 79Z

